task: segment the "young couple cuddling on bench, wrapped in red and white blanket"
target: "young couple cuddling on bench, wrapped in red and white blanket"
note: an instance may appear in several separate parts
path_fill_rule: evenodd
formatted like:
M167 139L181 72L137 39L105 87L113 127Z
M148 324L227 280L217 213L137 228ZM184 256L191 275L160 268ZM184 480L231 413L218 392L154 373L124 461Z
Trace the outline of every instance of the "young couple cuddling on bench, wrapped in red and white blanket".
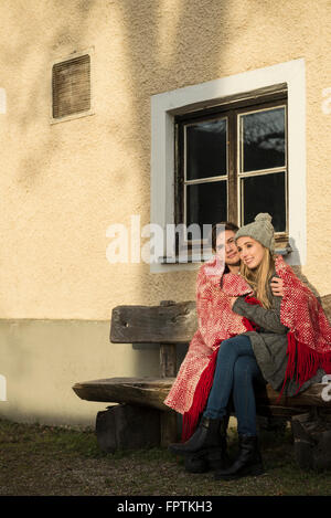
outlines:
M255 383L295 397L320 382L331 372L331 326L312 292L275 255L269 214L241 229L215 225L212 246L215 256L196 279L199 328L164 403L183 414L182 442L170 451L185 457L190 472L215 469L215 478L228 479L263 473ZM239 438L233 464L231 402Z

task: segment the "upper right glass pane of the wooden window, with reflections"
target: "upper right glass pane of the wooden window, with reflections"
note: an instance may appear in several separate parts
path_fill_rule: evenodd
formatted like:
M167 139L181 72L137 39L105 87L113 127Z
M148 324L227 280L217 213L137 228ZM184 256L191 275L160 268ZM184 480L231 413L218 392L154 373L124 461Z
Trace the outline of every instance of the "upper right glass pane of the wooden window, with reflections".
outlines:
M285 166L285 108L241 116L241 171Z

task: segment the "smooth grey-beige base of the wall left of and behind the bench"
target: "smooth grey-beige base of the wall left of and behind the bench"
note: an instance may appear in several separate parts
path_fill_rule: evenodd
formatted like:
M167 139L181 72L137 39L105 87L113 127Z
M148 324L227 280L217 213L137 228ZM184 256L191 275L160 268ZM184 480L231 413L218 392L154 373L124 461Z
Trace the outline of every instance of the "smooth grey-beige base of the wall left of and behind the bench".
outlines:
M0 419L95 426L108 403L83 401L77 381L159 376L159 349L109 342L109 321L0 320Z

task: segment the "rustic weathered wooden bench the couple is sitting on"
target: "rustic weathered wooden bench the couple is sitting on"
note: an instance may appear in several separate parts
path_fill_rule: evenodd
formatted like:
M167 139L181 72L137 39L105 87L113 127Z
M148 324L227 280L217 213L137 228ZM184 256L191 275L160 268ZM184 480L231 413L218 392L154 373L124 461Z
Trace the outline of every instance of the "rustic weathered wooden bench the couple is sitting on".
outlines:
M321 302L330 316L331 295L322 297ZM163 401L178 372L177 346L189 345L196 328L194 302L163 300L159 306L117 306L113 309L110 342L150 343L158 347L160 376L92 380L73 387L82 400L119 403L105 412L98 412L96 432L104 450L167 446L179 440L177 413L166 406ZM328 400L328 393L324 397L329 387L331 389L331 385L316 383L293 398L282 397L278 400L279 394L267 384L256 394L257 413L287 420L307 415L310 410L313 410L316 419L320 413L331 415L331 401ZM299 429L302 429L302 419L297 420L296 433L301 440L302 430L299 433Z

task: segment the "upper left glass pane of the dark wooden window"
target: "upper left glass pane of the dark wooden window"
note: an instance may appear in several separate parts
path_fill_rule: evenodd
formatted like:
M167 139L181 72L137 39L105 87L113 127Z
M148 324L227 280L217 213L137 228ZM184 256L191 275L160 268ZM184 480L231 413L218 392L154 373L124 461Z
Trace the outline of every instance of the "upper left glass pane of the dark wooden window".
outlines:
M226 118L186 126L186 180L226 175Z

